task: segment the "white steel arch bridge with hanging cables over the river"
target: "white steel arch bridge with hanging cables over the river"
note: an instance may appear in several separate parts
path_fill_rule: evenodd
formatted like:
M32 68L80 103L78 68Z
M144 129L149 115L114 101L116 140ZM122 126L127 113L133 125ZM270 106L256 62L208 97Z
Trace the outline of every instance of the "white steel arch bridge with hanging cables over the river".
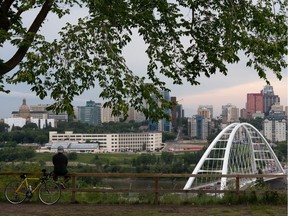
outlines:
M269 143L255 127L232 123L213 140L192 174L258 174L258 169L263 174L285 174ZM255 181L241 178L240 187ZM227 177L190 177L184 190L211 186L224 190L228 184Z

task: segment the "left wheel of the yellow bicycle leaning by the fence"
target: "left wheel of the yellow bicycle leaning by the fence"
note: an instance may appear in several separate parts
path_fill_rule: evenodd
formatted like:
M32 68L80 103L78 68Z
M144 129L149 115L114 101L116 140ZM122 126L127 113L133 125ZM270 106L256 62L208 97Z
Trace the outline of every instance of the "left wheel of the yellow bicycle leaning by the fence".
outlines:
M27 188L21 181L10 182L4 190L5 198L12 204L22 203L26 199Z

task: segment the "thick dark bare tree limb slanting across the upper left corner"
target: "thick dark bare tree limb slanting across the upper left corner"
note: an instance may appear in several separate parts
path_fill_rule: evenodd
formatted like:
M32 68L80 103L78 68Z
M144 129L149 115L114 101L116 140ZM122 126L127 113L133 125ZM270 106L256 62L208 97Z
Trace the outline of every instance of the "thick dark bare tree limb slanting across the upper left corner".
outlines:
M12 1L12 0L11 0ZM12 1L13 2L13 1ZM8 73L12 69L14 69L24 58L27 51L29 50L29 47L31 46L35 34L40 29L42 23L47 17L47 14L51 10L51 7L53 5L54 0L46 0L43 4L40 12L36 16L34 22L30 26L29 30L26 33L26 36L23 38L22 43L20 44L18 50L14 54L14 56L8 60L7 62L1 64L0 67L0 76L3 76L4 74Z

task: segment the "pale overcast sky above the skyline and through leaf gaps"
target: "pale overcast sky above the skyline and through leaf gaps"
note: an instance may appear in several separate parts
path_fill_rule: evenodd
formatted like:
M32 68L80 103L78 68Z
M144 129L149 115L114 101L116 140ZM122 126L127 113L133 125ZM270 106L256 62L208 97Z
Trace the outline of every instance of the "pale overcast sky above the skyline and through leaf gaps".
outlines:
M81 15L83 10L75 11L73 14ZM25 22L29 23L33 16L28 16ZM49 39L57 38L57 32L61 29L63 23L76 22L77 17L65 17L61 22L55 17L49 15L48 21L45 23L42 33ZM127 65L137 73L144 73L146 70L147 57L145 56L145 44L141 38L135 37L132 44L125 50ZM9 46L0 49L1 58L8 59L13 50ZM185 116L189 117L195 114L199 105L213 105L214 117L220 115L222 105L231 103L239 109L245 108L247 93L260 93L266 85L261 80L257 72L245 66L246 61L240 61L238 64L228 66L228 75L216 74L210 78L201 77L199 79L201 85L191 86L185 83L181 86L173 86L172 81L167 81L168 88L171 89L170 96L176 96L179 103L183 105ZM287 106L287 70L283 73L283 79L277 80L273 73L267 72L267 77L273 86L274 93L279 95L281 105ZM49 104L53 101L49 98L41 101L34 93L30 91L30 86L18 84L16 86L7 86L11 90L10 94L0 92L0 118L11 116L12 111L18 111L22 100L26 98L28 106L36 104ZM89 90L80 97L74 99L73 105L83 106L87 100L103 102L98 98L99 91L97 89Z

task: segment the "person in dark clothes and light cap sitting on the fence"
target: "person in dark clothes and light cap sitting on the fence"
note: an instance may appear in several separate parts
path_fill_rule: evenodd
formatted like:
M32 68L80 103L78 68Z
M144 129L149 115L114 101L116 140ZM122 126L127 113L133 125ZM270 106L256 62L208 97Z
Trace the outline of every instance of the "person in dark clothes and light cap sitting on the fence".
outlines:
M53 179L54 181L58 180L58 176L64 177L64 182L61 184L62 188L65 188L64 183L66 183L70 177L68 174L68 158L64 154L64 148L63 146L58 146L57 148L57 154L55 154L52 158L54 170L53 170Z

